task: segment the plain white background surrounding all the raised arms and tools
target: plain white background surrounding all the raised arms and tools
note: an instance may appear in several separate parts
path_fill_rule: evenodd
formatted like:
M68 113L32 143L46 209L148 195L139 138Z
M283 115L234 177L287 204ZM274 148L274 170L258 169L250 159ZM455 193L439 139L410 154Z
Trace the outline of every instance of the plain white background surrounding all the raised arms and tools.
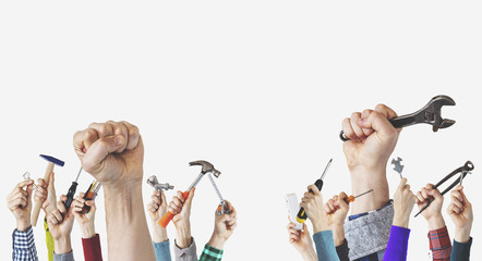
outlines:
M350 192L341 120L381 102L411 113L441 94L457 102L443 110L456 125L435 134L429 125L407 128L394 156L413 190L473 161L466 191L479 259L481 11L480 1L2 1L2 259L11 257L15 226L4 198L25 171L44 176L38 154L67 162L56 170L58 195L65 194L80 167L74 132L125 120L144 138L144 178L155 174L183 190L200 171L189 161L222 172L218 185L239 212L226 260L297 260L285 195L300 198L330 158L323 194ZM391 170L387 176L393 195L399 178ZM92 179L83 173L77 191ZM152 188L143 186L147 204ZM103 196L97 203L107 259ZM217 203L203 181L192 211L198 252ZM426 223L420 216L410 227L409 260L426 260ZM173 239L172 225L168 232ZM43 226L35 238L46 260ZM72 243L82 260L76 224Z

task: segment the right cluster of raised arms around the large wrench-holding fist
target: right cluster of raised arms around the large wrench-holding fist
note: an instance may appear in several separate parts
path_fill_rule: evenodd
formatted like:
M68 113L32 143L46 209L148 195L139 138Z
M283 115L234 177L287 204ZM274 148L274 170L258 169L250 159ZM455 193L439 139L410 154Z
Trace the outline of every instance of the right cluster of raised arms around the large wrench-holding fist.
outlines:
M451 190L446 209L455 225L454 244L442 215L444 197L433 184L413 194L403 177L390 199L386 167L401 132L389 122L396 116L390 108L378 104L342 121L347 139L344 153L352 194L373 190L356 201L349 200L346 192L324 200L318 188L310 185L300 206L311 220L313 236L305 223L301 229L296 228L293 220L287 226L289 241L303 260L407 260L409 221L414 204L420 210L430 204L421 215L427 223L427 247L433 260L470 259L472 204L461 185Z

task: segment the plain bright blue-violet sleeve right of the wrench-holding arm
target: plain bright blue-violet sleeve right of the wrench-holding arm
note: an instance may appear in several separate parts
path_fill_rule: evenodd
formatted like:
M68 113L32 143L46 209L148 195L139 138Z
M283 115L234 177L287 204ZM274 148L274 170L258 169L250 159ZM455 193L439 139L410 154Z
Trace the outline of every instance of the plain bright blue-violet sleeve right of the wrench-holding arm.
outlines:
M387 249L384 259L386 260L407 260L408 238L410 229L400 226L391 226L390 237L388 238Z

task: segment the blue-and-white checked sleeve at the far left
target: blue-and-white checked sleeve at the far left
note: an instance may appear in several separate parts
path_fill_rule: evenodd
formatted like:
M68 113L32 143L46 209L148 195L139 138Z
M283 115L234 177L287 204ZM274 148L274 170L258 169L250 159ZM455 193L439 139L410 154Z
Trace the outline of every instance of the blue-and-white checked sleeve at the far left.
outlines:
M34 231L32 226L27 231L13 231L13 261L38 261L37 248L35 248Z

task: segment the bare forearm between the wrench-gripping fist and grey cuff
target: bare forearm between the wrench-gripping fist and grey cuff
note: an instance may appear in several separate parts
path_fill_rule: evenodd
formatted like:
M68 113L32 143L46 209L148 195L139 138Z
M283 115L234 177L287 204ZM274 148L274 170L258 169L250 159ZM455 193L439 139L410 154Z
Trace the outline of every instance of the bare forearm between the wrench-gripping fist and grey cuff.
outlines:
M386 165L372 167L358 166L350 169L350 174L351 191L353 195L360 195L373 189L372 192L358 198L351 203L351 214L381 209L389 201Z

